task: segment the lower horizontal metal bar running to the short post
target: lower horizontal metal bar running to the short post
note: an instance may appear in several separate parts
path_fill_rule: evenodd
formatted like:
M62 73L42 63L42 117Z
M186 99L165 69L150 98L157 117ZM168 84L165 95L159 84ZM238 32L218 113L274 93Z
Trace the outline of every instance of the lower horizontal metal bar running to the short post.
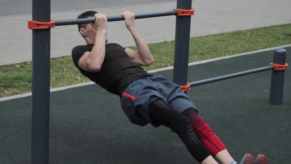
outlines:
M218 81L222 81L222 80L226 80L226 79L236 78L236 77L245 76L245 75L249 75L249 74L255 74L258 72L263 72L263 71L268 71L268 70L273 70L273 69L274 69L274 66L266 66L266 67L256 68L253 70L248 70L248 71L238 72L238 73L234 73L234 74L219 76L216 78L205 79L205 80L201 80L201 81L197 81L197 82L190 82L190 86L192 87L192 86L203 85L203 84L207 84L207 83L211 83L211 82L218 82Z

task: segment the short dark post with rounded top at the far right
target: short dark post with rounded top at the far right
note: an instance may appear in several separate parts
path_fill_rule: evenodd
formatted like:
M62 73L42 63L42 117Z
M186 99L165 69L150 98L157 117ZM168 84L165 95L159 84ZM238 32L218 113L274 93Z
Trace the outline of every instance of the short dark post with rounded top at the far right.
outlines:
M274 51L274 64L286 64L286 50L281 48ZM272 71L270 105L281 105L283 98L285 70Z

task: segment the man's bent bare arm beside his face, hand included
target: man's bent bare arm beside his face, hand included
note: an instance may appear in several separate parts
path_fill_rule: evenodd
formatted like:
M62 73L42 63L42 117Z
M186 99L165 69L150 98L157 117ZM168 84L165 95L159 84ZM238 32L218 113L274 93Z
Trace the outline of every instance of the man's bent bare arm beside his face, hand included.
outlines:
M99 72L105 57L105 42L107 17L104 14L95 14L96 21L92 27L96 30L94 46L91 52L85 52L79 60L79 67L88 72Z

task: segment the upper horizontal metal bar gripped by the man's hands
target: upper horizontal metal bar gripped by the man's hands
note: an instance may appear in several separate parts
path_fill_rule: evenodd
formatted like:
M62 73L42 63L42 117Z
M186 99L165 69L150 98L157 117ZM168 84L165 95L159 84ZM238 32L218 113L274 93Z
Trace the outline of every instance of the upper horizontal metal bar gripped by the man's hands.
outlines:
M148 13L141 13L136 14L135 19L142 19L142 18L152 18L152 17L160 17L160 16L169 16L169 15L177 15L178 11L171 10L171 11L161 11L161 12L148 12ZM107 21L121 21L124 20L124 17L119 16L108 16ZM86 23L94 23L95 18L84 18L84 19L68 19L68 20L57 20L55 22L55 26L66 26L66 25L76 25L76 24L86 24Z

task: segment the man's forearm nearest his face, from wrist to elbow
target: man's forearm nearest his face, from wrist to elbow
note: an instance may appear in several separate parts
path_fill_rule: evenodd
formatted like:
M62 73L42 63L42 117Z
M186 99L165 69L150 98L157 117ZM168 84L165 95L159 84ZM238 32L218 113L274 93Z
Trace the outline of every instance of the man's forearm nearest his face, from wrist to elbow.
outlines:
M101 69L101 66L105 57L105 41L106 41L106 29L98 29L96 31L96 38L94 46L89 53L87 63L95 68Z

